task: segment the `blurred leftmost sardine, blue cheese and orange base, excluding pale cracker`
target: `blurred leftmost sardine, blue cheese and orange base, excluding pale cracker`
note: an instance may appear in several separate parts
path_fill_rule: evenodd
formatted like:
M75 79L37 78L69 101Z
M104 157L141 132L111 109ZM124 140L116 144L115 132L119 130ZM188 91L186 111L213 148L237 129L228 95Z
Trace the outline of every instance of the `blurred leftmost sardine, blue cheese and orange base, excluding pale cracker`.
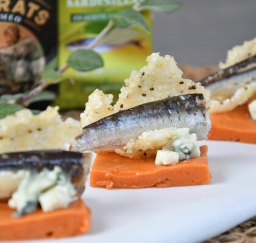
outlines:
M80 196L91 154L27 151L0 155L0 240L86 233L90 209Z

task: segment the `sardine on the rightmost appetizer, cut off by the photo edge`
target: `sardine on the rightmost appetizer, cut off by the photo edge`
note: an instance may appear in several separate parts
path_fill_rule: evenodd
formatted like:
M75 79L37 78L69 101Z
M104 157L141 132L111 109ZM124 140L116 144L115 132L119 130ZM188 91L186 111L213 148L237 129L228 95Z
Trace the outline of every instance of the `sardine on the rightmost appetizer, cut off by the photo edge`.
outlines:
M200 80L199 83L210 90L212 98L218 97L220 93L224 95L224 98L229 98L240 87L255 81L256 55L208 75Z

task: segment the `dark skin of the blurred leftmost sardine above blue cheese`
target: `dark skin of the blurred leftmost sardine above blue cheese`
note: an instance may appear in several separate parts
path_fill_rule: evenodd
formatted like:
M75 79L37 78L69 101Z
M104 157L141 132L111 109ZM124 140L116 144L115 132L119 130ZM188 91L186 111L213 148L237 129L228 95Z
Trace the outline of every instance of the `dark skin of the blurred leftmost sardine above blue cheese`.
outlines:
M77 194L82 194L85 188L85 179L88 173L87 154L79 152L46 150L24 151L0 154L0 171L18 171L25 169L34 173L42 169L54 169L59 166L71 178Z

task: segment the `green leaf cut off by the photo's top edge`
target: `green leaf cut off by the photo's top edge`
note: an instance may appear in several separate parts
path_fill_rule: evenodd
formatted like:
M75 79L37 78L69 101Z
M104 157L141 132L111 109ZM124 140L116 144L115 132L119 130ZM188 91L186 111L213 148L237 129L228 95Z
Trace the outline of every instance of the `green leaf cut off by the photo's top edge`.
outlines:
M180 7L182 7L182 2L172 1L172 0L144 0L138 5L135 5L135 9L141 10L154 10L157 12L171 13Z

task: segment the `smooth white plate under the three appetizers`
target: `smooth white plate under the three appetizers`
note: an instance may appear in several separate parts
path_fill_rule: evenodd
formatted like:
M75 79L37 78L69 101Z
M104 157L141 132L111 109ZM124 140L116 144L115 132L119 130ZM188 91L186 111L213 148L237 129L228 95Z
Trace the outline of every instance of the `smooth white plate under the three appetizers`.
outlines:
M140 190L105 190L87 186L84 198L92 210L90 233L52 241L202 242L255 216L256 146L206 143L212 174L210 184Z

